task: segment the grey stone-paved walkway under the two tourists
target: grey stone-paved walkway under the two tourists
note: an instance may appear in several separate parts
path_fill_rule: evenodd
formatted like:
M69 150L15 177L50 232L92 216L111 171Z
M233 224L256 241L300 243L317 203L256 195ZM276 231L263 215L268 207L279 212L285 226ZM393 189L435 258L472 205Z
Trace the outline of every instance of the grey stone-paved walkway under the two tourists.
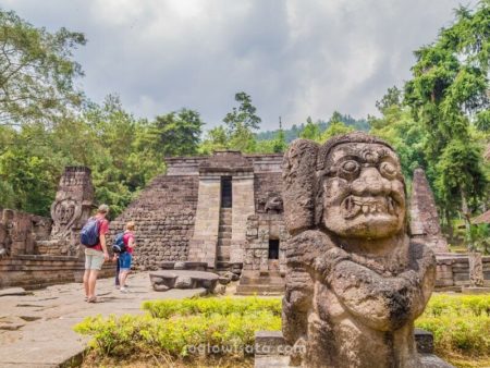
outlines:
M100 303L84 302L83 285L54 285L25 296L0 297L0 368L58 367L84 351L87 338L73 326L87 316L142 314L144 300L183 298L204 290L154 292L148 273L130 275L130 292L122 294L113 279L99 280Z

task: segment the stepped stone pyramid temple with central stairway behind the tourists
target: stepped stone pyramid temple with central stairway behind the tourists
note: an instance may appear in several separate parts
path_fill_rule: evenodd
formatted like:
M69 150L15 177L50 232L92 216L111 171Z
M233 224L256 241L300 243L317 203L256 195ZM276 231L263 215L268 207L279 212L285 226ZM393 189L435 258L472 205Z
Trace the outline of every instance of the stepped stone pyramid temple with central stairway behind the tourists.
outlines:
M169 158L167 164L167 174L156 177L111 224L115 231L128 220L136 222L136 267L205 262L208 270L242 274L238 292L281 292L282 245L289 237L282 155L225 150Z

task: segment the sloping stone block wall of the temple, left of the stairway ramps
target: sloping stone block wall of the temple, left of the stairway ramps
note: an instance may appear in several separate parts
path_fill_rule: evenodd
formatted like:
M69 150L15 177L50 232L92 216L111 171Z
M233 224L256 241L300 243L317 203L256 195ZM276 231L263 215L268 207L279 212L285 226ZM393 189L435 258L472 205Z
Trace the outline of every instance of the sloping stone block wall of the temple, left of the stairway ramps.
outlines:
M196 175L160 175L110 223L110 241L127 221L136 223L136 268L151 270L162 261L187 260L198 180Z

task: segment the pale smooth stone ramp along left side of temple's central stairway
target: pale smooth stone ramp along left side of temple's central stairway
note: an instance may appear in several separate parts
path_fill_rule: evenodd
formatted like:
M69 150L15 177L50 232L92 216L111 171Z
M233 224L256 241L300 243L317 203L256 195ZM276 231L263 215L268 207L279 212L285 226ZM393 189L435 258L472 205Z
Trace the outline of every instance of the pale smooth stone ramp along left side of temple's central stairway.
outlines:
M207 262L208 267L216 268L220 205L221 176L203 174L199 177L194 235L188 249L189 261Z

